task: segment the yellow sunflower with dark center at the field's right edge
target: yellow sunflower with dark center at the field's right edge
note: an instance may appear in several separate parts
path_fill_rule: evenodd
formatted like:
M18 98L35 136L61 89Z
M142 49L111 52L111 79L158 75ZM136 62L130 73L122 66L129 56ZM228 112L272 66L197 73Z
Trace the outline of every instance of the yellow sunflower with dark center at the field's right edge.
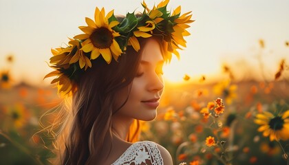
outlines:
M268 111L258 113L254 122L261 125L258 131L263 132L265 137L269 136L270 141L289 140L289 110L280 115Z

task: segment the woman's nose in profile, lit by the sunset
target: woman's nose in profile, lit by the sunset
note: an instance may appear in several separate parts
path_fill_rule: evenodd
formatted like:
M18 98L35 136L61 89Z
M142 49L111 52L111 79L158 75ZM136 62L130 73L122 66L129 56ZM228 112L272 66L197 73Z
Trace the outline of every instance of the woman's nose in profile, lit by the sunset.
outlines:
M151 78L149 78L148 90L151 92L158 92L162 91L162 89L164 89L164 81L162 80L162 75L154 73L151 75Z

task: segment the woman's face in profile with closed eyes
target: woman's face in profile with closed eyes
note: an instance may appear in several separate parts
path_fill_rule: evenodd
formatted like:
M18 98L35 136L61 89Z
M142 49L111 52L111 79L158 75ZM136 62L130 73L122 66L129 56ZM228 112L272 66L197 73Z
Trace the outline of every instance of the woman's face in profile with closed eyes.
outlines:
M164 58L160 45L154 39L149 39L142 47L141 60L137 76L133 79L131 92L125 105L115 114L115 117L138 120L153 120L164 89L162 80L162 65ZM122 89L116 95L116 105L125 102L128 89Z

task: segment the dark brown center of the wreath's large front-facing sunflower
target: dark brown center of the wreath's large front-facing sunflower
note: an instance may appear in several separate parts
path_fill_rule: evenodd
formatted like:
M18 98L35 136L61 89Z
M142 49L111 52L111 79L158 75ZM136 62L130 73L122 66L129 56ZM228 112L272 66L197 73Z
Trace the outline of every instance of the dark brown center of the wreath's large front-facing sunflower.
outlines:
M92 41L94 47L97 47L98 49L106 49L113 43L114 36L109 29L101 27L94 30L94 32L89 36L89 39Z

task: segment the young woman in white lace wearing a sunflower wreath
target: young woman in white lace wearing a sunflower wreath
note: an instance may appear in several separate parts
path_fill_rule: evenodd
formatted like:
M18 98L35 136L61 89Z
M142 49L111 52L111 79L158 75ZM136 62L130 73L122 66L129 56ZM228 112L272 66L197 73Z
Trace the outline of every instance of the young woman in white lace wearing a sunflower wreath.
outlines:
M156 118L164 84L162 65L176 49L191 14L172 13L162 1L152 10L116 18L96 8L86 18L84 34L67 47L52 50L58 92L71 100L59 112L56 129L57 164L173 164L169 152L154 142L137 142L140 120ZM58 126L56 128L56 126Z

